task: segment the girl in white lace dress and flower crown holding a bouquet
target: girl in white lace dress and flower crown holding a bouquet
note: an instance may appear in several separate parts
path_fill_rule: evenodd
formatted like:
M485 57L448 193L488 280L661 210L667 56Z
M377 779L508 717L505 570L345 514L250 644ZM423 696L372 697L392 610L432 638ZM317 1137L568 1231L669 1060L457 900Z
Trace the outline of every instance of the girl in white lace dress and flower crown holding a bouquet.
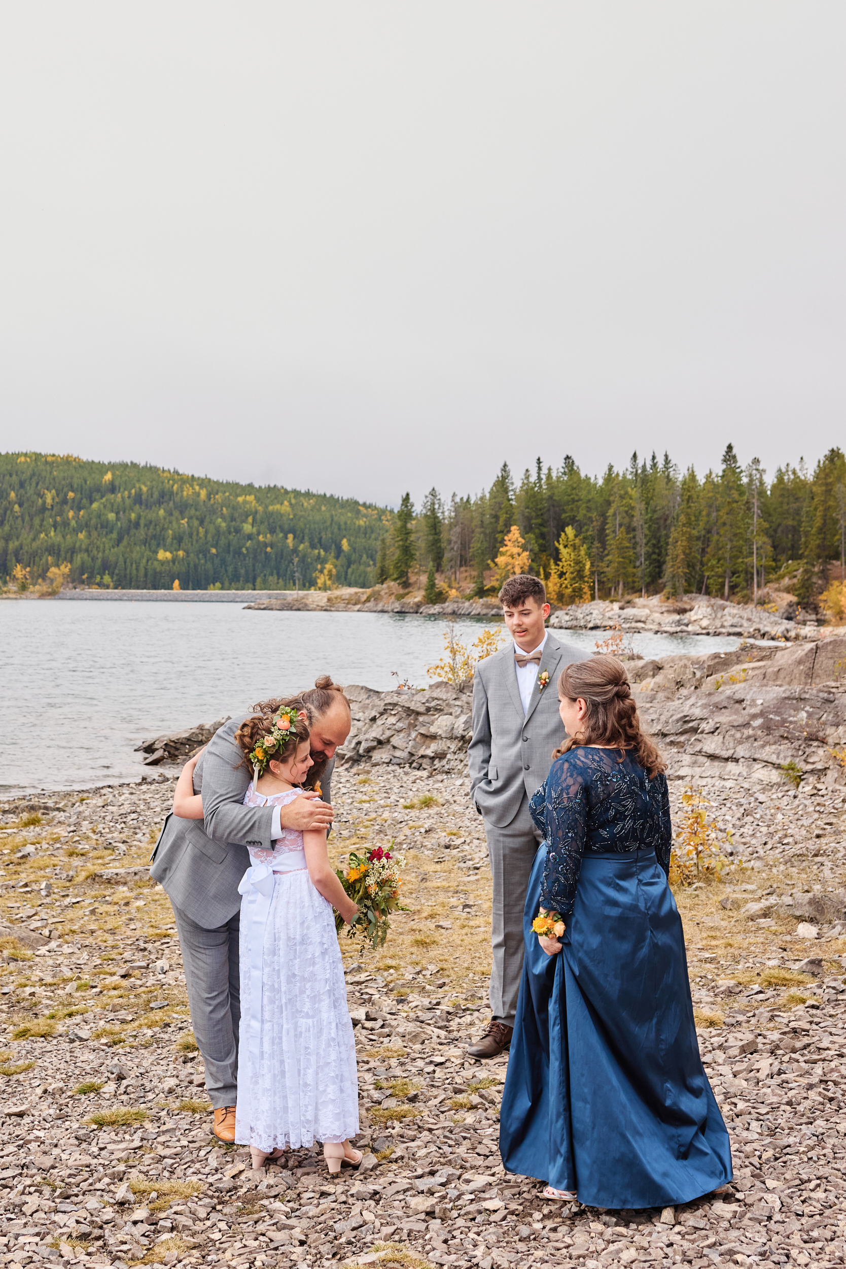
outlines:
M235 739L254 772L246 806L285 806L302 793L313 765L304 714L254 714ZM247 849L235 1140L250 1146L254 1169L321 1141L337 1173L361 1152L349 1142L359 1131L358 1070L332 907L349 923L358 906L330 865L325 832L284 829L273 850Z

